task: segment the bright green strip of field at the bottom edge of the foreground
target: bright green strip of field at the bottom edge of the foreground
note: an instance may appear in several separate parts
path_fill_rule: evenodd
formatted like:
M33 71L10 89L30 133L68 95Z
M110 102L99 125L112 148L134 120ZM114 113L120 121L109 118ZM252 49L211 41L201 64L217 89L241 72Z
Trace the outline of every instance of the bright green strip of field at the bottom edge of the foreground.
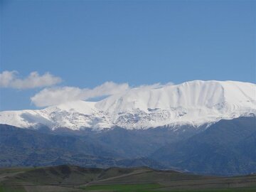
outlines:
M144 184L116 184L116 185L95 185L86 186L82 189L85 191L114 191L114 192L146 192L155 188L160 188L161 185L157 183L144 183Z

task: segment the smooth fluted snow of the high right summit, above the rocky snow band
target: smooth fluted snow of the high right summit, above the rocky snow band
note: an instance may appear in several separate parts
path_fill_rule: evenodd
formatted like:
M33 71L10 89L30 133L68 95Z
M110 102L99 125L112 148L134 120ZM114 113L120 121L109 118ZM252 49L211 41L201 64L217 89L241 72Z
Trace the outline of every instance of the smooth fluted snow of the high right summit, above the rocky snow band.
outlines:
M255 85L246 82L220 82L195 80L180 85L131 89L122 95L112 95L97 102L96 107L119 113L129 110L148 109L171 110L175 107L207 107L212 108L222 103L240 103L255 101Z

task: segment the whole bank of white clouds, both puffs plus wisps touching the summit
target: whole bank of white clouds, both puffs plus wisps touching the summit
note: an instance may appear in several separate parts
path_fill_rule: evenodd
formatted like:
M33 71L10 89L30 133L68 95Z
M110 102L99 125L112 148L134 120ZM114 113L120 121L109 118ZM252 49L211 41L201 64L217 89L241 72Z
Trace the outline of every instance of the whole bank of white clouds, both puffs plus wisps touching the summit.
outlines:
M75 100L89 100L95 97L116 95L135 89L143 91L164 86L161 83L156 83L152 85L130 87L128 83L115 83L108 81L92 89L80 87L53 87L53 85L56 85L61 81L61 78L55 77L50 73L39 75L36 71L30 73L26 78L19 78L18 72L15 70L6 70L0 73L0 87L9 87L19 90L38 87L43 88L43 90L37 92L36 95L30 98L31 103L36 105L36 107L48 107ZM169 82L166 85L170 84L172 84L172 82Z

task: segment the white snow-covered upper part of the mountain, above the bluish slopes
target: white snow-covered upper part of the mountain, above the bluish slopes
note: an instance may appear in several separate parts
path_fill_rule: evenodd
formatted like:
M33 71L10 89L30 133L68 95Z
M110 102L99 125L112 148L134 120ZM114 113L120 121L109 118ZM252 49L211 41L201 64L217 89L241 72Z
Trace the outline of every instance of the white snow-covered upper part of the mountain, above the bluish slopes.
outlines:
M99 102L73 101L43 110L0 112L0 124L51 129L95 130L115 126L146 129L202 124L256 114L256 85L249 82L201 81L136 87Z

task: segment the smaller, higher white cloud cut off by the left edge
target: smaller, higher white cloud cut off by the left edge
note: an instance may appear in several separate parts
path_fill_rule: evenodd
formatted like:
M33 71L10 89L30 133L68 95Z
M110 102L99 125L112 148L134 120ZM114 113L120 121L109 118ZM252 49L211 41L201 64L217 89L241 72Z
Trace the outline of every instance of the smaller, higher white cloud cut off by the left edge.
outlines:
M55 77L50 73L39 75L36 71L26 78L18 78L16 71L4 71L0 73L0 87L11 87L15 89L33 89L36 87L48 87L61 82L61 78Z

